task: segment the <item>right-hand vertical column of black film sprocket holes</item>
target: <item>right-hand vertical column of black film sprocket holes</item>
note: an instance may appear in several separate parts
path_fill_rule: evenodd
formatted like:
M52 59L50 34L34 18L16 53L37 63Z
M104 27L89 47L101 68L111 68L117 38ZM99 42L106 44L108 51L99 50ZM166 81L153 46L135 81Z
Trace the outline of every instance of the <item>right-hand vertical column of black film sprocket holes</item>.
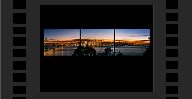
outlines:
M166 99L178 99L178 0L166 0Z

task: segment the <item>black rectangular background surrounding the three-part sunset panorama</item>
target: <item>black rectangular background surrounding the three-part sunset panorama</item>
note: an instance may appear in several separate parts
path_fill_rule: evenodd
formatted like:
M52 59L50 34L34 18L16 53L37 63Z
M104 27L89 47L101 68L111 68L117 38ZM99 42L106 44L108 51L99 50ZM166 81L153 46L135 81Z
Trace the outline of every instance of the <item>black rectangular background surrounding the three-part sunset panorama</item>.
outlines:
M151 54L137 57L44 57L43 29L150 29ZM40 90L43 92L152 92L153 7L41 6Z

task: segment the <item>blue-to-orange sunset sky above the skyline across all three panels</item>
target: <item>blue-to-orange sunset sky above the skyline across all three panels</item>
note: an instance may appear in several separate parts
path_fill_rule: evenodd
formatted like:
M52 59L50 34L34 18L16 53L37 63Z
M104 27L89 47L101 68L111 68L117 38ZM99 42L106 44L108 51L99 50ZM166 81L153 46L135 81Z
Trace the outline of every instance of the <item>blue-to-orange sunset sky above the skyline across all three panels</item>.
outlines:
M115 40L149 40L150 29L115 29ZM44 29L44 40L80 39L80 29ZM81 29L81 39L114 40L114 29Z

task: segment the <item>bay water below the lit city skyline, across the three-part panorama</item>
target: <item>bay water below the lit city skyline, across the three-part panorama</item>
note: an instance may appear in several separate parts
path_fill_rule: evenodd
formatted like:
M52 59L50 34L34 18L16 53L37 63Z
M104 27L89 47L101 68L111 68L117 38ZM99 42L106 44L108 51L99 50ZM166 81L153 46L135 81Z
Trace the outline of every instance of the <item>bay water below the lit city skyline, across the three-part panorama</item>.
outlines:
M95 47L96 53L103 53L106 47ZM44 52L44 56L72 56L74 50L77 47L59 47L54 50L49 50ZM111 47L114 51L114 48ZM144 46L123 46L123 47L116 47L115 52L122 53L124 56L142 56L145 52L146 47Z

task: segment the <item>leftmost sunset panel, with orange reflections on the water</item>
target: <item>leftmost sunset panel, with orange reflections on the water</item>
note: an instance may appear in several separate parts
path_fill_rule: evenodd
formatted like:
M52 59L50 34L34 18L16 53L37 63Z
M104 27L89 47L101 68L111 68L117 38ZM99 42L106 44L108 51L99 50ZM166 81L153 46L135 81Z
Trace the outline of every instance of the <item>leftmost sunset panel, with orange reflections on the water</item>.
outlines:
M44 29L44 56L72 56L80 45L80 29Z

